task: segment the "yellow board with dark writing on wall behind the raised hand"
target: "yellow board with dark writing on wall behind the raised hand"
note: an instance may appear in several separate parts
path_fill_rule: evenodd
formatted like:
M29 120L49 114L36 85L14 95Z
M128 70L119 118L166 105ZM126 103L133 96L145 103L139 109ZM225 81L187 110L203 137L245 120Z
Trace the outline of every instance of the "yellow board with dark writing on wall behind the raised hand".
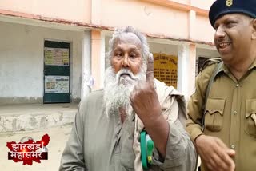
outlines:
M153 53L154 78L166 85L177 88L177 62L178 57L171 54Z

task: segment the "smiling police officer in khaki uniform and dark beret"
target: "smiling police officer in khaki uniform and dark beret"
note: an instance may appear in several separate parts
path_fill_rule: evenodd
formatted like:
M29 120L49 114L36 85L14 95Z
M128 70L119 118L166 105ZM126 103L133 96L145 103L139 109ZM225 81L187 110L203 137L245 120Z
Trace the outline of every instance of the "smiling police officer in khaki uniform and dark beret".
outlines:
M256 168L256 1L217 0L209 18L222 62L198 75L186 130L202 159L201 170L252 171Z

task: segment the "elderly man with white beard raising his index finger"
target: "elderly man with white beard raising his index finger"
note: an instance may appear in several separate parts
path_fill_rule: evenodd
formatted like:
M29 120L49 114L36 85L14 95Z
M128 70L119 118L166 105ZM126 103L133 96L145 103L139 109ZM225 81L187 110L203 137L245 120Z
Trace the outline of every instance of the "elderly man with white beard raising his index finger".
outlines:
M105 88L81 101L60 170L141 171L143 129L154 141L149 170L193 170L194 145L180 122L186 105L173 87L154 81L146 38L130 26L115 30L107 55Z

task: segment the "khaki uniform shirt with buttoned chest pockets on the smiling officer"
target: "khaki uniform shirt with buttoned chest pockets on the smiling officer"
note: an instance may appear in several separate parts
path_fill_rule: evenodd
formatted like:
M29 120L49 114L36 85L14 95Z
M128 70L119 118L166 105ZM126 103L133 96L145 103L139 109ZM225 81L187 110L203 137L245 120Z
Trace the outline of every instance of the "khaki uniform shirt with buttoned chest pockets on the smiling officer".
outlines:
M196 91L188 104L189 120L186 130L192 141L200 134L219 137L234 149L236 170L256 169L256 60L239 80L223 64L211 85L205 112L206 87L217 64L207 66L196 78ZM205 129L202 132L202 113ZM202 170L206 170L202 163Z

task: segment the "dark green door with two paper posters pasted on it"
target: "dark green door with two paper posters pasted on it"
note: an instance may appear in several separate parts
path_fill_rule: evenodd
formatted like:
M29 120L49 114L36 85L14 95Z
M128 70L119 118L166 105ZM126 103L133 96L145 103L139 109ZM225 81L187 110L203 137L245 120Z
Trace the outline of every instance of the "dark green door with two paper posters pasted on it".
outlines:
M45 41L44 103L70 103L70 43Z

